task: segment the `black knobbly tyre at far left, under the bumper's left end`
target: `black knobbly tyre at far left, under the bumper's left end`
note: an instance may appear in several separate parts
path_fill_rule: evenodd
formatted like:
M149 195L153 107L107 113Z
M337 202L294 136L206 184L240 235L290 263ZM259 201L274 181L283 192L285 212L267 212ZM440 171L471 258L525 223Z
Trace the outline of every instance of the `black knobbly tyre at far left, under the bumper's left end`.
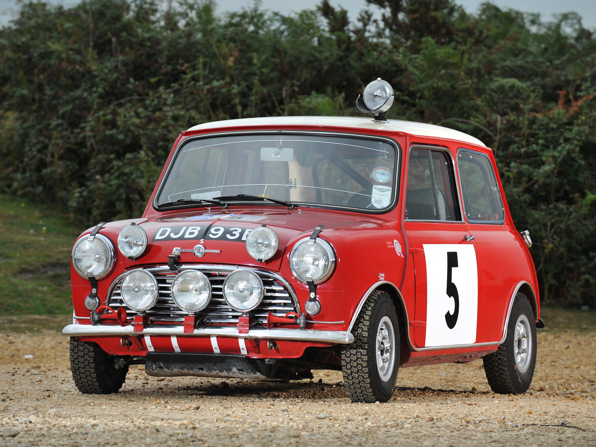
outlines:
M115 359L97 343L70 337L70 370L81 393L110 394L122 388L128 365L116 368Z

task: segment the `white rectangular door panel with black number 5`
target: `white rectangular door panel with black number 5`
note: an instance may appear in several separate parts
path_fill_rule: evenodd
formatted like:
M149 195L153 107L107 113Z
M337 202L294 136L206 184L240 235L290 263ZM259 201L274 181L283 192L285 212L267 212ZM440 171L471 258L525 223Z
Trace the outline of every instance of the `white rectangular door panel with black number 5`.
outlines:
M473 245L423 244L426 346L476 342L478 269Z

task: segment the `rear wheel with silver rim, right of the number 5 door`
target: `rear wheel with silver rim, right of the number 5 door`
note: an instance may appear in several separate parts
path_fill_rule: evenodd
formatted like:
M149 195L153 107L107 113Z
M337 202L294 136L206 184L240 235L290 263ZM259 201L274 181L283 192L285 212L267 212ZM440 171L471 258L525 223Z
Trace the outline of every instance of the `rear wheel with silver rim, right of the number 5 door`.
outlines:
M523 293L514 300L505 342L483 358L488 383L499 394L526 392L536 366L536 318Z

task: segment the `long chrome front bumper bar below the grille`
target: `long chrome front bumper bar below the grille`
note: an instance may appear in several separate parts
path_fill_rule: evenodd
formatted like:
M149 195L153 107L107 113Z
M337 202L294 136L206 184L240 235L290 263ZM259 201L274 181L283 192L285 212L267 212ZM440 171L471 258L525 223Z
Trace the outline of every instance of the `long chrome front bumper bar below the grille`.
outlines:
M183 325L147 325L142 332L134 332L132 325L69 324L62 330L63 336L70 337L116 337L116 336L189 336ZM238 339L295 340L297 342L322 342L349 344L354 336L348 331L318 331L313 329L265 329L254 328L248 334L238 334L238 328L201 327L195 328L193 336L235 337Z

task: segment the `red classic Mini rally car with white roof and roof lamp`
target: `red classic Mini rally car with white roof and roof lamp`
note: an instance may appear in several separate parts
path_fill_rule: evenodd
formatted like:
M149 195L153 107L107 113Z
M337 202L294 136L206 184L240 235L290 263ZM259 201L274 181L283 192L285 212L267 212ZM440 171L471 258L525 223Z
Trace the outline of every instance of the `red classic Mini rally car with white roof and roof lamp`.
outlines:
M267 117L182 132L141 218L72 250L70 361L83 393L148 375L302 380L343 372L355 402L391 398L398 368L483 358L522 393L539 299L490 148L366 117Z

